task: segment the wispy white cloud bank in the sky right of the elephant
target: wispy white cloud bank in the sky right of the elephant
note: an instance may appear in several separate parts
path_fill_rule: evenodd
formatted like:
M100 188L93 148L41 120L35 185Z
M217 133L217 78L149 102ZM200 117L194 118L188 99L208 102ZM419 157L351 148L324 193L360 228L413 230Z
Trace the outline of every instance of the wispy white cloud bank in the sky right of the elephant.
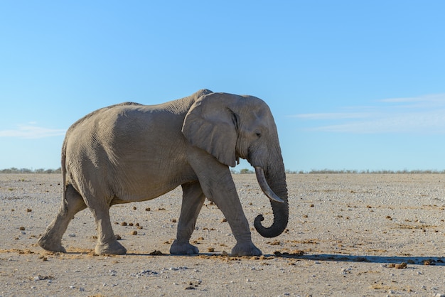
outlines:
M382 99L372 107L349 107L348 112L296 114L292 117L313 121L309 131L445 134L445 94Z

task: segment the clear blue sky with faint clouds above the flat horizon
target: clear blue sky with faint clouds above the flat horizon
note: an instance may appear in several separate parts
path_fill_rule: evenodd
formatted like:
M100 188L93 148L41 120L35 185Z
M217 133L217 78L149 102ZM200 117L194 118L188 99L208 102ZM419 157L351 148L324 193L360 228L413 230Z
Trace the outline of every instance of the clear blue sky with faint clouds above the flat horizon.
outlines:
M1 1L0 169L124 101L260 97L284 163L445 169L445 1ZM246 168L242 163L240 168Z

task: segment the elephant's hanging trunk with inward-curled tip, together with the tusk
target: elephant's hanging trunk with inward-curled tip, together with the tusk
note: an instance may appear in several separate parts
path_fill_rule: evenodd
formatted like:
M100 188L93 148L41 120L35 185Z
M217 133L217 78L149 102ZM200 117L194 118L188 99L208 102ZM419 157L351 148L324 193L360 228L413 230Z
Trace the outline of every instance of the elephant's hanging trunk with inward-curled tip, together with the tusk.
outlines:
M264 175L263 168L255 167L255 173L257 174L259 186L270 199L274 212L274 223L270 227L264 227L261 223L264 217L258 215L255 217L254 227L262 237L277 237L286 229L289 220L289 204L287 202L284 166L273 173L267 171L266 175Z

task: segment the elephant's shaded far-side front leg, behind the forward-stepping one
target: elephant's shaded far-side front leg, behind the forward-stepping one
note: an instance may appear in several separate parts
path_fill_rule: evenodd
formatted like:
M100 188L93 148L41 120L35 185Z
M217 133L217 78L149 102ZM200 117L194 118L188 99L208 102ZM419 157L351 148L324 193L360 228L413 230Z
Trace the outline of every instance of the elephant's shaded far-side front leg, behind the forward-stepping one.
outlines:
M200 184L186 183L182 185L183 201L178 222L176 240L171 244L170 254L198 254L198 247L190 244L190 237L195 229L196 219L203 207L205 196Z

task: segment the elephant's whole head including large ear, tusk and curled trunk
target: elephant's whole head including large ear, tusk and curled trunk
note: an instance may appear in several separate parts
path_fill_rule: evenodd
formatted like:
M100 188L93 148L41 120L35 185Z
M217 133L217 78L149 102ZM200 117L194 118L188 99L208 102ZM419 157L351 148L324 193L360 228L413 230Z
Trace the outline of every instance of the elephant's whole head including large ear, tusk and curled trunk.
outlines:
M274 212L272 226L264 227L264 218L258 215L254 227L263 237L282 234L289 219L286 175L277 126L267 104L252 96L203 95L188 111L183 134L220 163L233 167L239 158L245 158L254 166Z

